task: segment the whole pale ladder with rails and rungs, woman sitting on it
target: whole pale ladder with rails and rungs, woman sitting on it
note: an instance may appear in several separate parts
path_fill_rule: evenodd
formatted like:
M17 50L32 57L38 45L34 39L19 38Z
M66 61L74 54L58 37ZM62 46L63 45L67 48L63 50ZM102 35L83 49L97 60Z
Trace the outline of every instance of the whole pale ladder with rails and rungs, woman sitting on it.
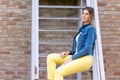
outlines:
M61 5L39 5L39 0L32 0L32 54L31 54L31 80L39 79L39 70L46 69L45 67L40 68L39 67L39 58L40 57L46 57L45 54L39 54L39 45L42 44L60 44L60 45L69 45L71 44L70 42L40 42L40 32L76 32L76 30L47 30L47 29L40 29L40 23L39 20L72 20L72 21L77 21L78 22L78 28L81 25L81 20L80 16L78 17L39 17L39 9L46 8L46 9L53 9L53 8L58 8L58 9L79 9L79 13L81 13L81 9L83 8L82 3L83 1L80 0L80 5L79 6L61 6ZM97 1L96 0L86 0L86 5L91 6L95 9L95 13L98 13L97 11ZM95 60L94 66L93 66L93 80L105 80L105 74L104 74L104 64L103 64L103 56L102 56L102 47L101 47L101 37L100 37L100 29L99 29L99 19L98 19L98 14L95 15L95 24L97 25L97 42L96 42L96 48L95 48ZM97 73L97 74L96 74ZM100 76L99 76L100 75ZM82 74L78 73L77 74L77 80L81 80Z

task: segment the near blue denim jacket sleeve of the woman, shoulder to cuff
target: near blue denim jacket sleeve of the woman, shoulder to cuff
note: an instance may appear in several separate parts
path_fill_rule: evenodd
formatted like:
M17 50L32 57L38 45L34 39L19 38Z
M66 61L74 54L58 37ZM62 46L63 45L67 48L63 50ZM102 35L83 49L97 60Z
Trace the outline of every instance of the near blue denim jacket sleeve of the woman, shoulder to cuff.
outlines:
M88 34L86 37L86 41L85 41L85 46L79 50L79 52L77 54L74 54L72 56L72 59L77 59L80 58L84 55L87 55L89 53L89 50L92 49L93 47L93 43L95 42L95 38L96 38L96 31L94 28L90 28L88 29Z

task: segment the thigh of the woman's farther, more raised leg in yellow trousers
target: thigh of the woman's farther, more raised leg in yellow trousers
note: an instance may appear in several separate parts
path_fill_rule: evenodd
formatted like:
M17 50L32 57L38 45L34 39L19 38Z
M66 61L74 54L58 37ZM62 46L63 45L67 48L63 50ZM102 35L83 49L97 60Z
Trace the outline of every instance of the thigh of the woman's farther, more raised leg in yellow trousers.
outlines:
M71 55L68 55L65 58L62 58L59 53L51 53L48 55L48 58L52 59L58 65L63 64L70 57L71 57Z

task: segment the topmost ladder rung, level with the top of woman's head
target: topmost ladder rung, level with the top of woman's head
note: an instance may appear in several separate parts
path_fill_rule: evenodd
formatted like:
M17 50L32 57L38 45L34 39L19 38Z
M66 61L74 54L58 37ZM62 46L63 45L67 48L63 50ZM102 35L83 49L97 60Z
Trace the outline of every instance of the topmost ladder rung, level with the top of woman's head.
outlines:
M61 6L54 6L54 5L40 5L39 8L76 8L76 9L82 9L84 7L81 7L81 6L64 6L64 5L61 5Z

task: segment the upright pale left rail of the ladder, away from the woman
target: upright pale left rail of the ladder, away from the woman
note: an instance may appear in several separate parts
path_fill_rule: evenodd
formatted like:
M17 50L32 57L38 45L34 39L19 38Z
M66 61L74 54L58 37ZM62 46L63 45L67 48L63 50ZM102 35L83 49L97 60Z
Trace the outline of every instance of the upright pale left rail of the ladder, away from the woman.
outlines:
M38 0L32 0L32 51L31 51L31 80L39 79L39 61L38 61Z

